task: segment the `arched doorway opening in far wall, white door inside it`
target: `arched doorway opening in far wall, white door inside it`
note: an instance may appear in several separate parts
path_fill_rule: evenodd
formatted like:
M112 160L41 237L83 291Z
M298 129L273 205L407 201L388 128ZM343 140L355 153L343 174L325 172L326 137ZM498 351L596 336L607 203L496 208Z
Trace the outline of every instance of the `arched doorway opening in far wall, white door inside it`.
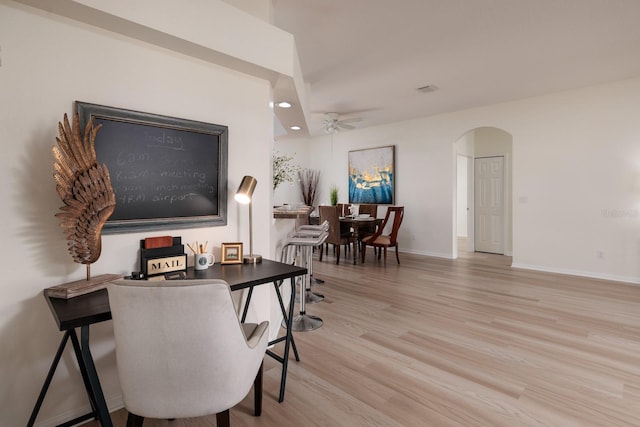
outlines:
M459 251L512 255L512 145L511 134L494 127L455 142L455 257Z

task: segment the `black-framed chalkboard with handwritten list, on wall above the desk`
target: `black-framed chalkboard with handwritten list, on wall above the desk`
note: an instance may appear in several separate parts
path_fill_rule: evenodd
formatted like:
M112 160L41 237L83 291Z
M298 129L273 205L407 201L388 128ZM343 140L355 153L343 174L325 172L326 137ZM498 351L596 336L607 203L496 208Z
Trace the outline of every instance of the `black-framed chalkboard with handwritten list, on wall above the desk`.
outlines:
M105 234L227 224L228 128L76 101L84 128L102 125L96 157L116 209Z

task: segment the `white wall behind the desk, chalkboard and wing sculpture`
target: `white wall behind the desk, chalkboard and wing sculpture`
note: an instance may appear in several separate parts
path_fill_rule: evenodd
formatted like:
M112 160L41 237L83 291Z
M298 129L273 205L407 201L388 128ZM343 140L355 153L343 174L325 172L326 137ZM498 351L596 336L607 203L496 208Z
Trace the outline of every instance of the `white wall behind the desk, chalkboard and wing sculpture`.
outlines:
M247 209L233 201L245 174L258 179L254 246L257 253L270 256L273 121L271 87L266 80L11 1L0 1L0 44L4 178L0 236L5 245L5 277L0 282L0 425L18 426L28 420L62 337L42 290L85 275L84 267L68 255L54 217L61 201L52 178L51 147L57 124L64 113L73 112L73 102L229 126L228 225L103 236L102 256L92 266L94 275L137 269L138 242L146 236L208 240L218 258L221 242L248 243ZM264 317L267 307L254 308L253 316ZM121 398L111 322L91 328L91 346L113 409ZM88 402L68 349L37 425L54 425L85 409Z

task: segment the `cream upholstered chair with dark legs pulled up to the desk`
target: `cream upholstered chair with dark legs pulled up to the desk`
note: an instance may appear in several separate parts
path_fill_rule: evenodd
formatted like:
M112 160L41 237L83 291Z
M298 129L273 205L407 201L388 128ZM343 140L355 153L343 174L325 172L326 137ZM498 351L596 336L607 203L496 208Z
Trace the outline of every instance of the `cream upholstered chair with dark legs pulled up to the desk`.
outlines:
M144 418L216 414L254 385L262 411L269 322L241 324L222 280L117 280L107 285L127 427Z

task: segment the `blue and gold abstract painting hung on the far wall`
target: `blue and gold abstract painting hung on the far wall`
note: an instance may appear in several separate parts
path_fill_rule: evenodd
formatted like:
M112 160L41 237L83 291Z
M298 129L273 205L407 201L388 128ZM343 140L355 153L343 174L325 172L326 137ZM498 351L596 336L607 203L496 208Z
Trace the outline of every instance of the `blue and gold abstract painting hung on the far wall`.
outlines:
M395 145L348 153L349 203L393 205L395 202Z

